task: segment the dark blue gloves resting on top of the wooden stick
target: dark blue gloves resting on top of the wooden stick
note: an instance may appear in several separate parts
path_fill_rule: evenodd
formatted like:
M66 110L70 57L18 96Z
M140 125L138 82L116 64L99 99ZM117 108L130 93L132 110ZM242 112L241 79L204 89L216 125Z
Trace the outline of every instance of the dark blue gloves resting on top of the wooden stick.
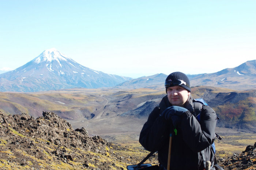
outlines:
M181 123L181 115L188 111L188 109L179 106L171 106L166 108L162 116L165 117L166 120L172 120L173 126L177 127Z

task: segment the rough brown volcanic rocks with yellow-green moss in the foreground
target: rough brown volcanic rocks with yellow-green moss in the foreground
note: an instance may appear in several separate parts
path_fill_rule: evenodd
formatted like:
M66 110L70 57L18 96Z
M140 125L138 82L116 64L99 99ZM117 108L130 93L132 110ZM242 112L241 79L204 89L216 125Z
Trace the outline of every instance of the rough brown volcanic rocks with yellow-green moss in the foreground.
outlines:
M84 128L73 130L53 112L43 112L37 119L24 113L0 112L0 169L126 169L146 154L100 136L90 137ZM157 164L157 156L147 163ZM219 165L224 169L256 169L256 143L241 154L222 158Z

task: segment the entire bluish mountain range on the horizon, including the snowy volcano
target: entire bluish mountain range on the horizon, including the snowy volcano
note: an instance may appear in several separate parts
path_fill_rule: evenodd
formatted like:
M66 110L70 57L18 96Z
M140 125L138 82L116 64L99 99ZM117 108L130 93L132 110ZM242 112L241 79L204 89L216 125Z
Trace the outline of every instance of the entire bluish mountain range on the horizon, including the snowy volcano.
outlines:
M256 88L256 60L216 73L187 75L191 86L215 86L235 90ZM0 91L38 92L72 88L162 89L167 75L136 79L95 71L82 66L55 48L43 51L25 65L0 74Z

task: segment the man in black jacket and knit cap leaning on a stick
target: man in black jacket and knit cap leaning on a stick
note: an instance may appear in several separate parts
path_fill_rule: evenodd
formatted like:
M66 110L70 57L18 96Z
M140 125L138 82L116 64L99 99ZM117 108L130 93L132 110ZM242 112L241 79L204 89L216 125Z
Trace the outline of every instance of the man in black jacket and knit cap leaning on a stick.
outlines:
M215 139L217 115L202 106L200 121L193 114L193 99L188 77L171 73L165 81L167 95L148 116L139 142L148 151L158 151L159 167L167 169L169 134L172 133L171 170L203 170L206 161L214 163L211 144Z

